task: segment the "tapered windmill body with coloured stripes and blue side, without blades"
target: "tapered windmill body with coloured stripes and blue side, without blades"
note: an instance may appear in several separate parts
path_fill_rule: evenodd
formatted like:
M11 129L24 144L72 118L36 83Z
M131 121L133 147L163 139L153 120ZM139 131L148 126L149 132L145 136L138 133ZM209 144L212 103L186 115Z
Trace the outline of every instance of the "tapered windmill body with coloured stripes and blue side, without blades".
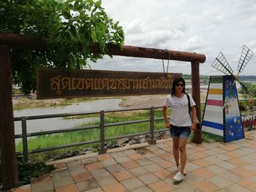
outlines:
M233 83L234 78L229 75L210 77L203 114L202 131L224 142L244 138L236 84Z

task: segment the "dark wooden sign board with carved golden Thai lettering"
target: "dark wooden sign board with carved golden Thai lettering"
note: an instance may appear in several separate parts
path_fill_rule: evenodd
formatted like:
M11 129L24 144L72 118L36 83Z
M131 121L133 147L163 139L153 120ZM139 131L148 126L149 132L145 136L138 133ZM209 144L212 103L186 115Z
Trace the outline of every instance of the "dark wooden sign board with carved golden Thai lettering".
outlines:
M170 93L181 73L37 69L37 99Z

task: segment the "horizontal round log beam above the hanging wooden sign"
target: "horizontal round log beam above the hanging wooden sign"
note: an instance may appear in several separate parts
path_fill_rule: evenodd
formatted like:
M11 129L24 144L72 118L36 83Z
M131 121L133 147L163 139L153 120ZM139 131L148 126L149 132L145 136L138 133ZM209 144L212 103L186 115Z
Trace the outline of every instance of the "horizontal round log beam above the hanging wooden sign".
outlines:
M0 44L7 44L11 47L39 49L44 48L46 40L44 37L30 38L20 34L0 34ZM79 45L78 45L79 46ZM204 63L206 55L199 53L190 53L176 50L161 50L149 47L135 47L129 45L107 45L105 53L99 49L99 45L91 47L91 53L100 53L106 55L121 55L127 57L138 58L155 58L155 59L170 59L175 61L199 61Z

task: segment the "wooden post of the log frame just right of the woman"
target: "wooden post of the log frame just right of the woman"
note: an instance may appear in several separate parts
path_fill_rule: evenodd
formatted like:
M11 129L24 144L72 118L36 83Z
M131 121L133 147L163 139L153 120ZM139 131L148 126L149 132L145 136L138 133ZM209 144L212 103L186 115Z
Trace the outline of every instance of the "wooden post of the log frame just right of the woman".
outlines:
M196 104L197 118L201 122L199 61L191 62L192 96ZM192 142L202 143L202 130L196 129Z

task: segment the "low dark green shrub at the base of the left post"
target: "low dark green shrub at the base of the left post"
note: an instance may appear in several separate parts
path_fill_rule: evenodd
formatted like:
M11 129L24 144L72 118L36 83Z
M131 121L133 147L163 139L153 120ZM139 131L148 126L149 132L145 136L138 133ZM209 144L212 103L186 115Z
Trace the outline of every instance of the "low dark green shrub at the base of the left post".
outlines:
M53 171L54 169L53 165L46 166L43 162L29 162L28 164L24 164L22 161L18 161L19 185L29 184L31 178L39 177L40 175ZM0 164L0 183L2 183L1 175Z

